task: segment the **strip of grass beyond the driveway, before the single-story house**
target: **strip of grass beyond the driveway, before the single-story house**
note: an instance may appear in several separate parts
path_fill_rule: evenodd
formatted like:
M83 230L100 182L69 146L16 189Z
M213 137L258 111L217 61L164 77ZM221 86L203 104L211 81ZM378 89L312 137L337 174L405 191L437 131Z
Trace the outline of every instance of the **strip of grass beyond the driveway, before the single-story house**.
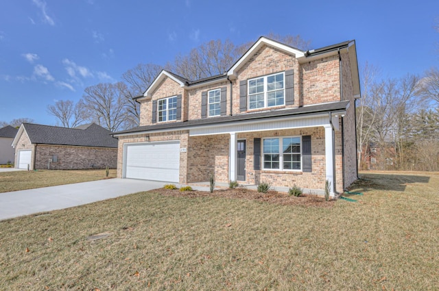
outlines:
M108 177L116 177L110 170ZM19 170L0 173L0 193L106 179L106 170Z

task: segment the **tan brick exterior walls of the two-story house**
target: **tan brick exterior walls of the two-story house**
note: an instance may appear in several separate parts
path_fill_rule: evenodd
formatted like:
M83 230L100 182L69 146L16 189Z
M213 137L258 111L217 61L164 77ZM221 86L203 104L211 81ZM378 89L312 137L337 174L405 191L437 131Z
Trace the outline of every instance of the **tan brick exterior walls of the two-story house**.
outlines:
M353 96L353 81L351 79L351 64L347 52L342 52L342 71L340 72L339 55L334 53L326 58L315 59L303 64L276 48L263 46L239 71L237 79L219 81L198 88L181 88L180 85L166 77L152 92L152 99L141 103L141 125L152 125L152 100L182 94L182 121L201 118L202 92L227 88L226 114L246 114L239 110L239 81L294 70L294 104L283 105L272 109L285 107L301 107L333 101L349 100L351 104L346 116L339 118L341 131L335 131L335 189L342 192L357 179L355 151L355 99ZM341 76L341 77L340 77ZM230 99L231 111L230 112ZM267 110L263 108L260 110ZM258 110L252 110L258 111ZM175 121L174 121L175 122ZM337 122L337 121L335 121ZM180 147L187 147L187 153L180 153L180 183L208 181L209 175L215 173L215 179L228 181L228 151L230 136L194 136L189 137L187 131L172 131L167 134L148 134L150 140L180 140ZM312 173L279 172L253 170L253 139L269 136L311 136ZM324 127L304 129L289 129L280 131L260 131L252 133L237 133L237 139L246 139L246 184L258 184L260 181L271 181L273 186L292 186L312 189L324 189L326 179L326 157L324 149ZM145 134L119 137L119 155L117 177L122 176L123 144L126 142L145 142Z

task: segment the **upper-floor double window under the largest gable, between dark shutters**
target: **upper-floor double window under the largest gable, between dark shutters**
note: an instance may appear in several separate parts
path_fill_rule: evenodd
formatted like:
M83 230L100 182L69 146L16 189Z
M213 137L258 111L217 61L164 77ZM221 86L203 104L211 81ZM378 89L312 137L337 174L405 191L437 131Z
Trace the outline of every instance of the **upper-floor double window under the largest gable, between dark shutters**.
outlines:
M284 73L248 80L248 108L285 105Z

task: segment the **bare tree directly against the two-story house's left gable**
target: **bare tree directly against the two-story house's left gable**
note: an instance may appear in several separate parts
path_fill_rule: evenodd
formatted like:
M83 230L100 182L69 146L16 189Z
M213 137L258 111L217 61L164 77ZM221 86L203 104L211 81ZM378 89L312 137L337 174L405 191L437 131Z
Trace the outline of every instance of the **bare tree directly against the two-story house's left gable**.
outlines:
M143 94L162 69L163 67L157 64L138 64L123 73L122 79L127 85L124 91L124 95L127 99L124 127L129 128L139 125L139 103L133 98Z

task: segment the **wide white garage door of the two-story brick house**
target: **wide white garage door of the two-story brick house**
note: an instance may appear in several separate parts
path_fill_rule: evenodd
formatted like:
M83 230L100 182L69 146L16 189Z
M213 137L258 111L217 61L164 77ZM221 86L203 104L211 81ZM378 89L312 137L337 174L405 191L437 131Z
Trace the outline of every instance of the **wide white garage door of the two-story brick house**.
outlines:
M127 144L125 177L154 181L179 181L180 142Z

